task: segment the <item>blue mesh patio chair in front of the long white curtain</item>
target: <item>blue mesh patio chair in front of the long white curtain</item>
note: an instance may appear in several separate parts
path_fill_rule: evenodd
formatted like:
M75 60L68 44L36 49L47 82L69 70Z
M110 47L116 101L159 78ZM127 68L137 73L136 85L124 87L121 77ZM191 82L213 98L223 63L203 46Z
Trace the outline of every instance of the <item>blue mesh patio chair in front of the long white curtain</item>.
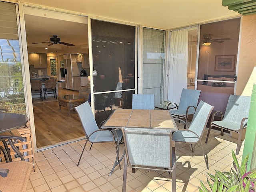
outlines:
M180 104L176 110L170 110L170 113L174 117L185 118L185 122L188 120L188 115L192 115L196 111L198 99L201 90L183 89L180 96Z

